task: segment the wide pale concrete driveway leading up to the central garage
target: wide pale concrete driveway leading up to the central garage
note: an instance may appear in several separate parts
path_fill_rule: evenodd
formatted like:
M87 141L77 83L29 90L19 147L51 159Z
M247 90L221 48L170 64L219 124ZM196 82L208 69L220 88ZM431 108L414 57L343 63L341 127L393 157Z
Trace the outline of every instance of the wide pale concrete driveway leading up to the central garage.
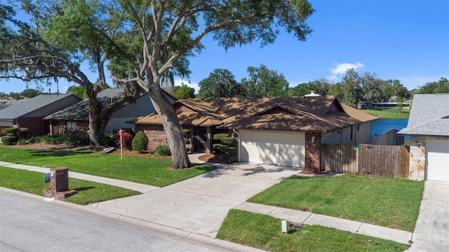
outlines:
M229 209L300 171L235 163L149 193L86 207L215 237Z

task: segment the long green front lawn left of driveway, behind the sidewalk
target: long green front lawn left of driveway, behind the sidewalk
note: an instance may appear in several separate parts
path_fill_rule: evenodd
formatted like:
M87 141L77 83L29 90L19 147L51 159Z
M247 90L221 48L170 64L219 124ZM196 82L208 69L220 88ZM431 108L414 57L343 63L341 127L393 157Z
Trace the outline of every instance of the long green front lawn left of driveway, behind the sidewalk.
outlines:
M36 151L0 147L0 160L38 167L68 167L79 172L121 179L150 186L168 186L209 172L213 165L196 165L189 169L171 170L171 158L145 158L120 155L93 155L93 151Z

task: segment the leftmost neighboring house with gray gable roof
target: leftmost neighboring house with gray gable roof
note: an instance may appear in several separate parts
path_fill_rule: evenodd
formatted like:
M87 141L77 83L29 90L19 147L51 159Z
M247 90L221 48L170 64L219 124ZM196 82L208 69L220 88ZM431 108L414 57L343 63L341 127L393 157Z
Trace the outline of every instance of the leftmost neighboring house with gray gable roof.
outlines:
M27 127L29 136L48 134L44 117L81 101L73 94L40 94L0 110L0 127Z

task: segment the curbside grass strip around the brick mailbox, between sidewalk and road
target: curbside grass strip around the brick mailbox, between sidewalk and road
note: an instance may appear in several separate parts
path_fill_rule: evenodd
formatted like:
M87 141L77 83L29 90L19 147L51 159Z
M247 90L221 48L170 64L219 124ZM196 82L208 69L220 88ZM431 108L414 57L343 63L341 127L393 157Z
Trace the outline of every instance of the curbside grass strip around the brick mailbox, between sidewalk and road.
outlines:
M43 182L43 175L40 172L0 167L0 186L42 195L42 190L49 188L50 183ZM135 190L71 178L69 189L76 190L77 193L67 197L65 201L81 205L140 194Z

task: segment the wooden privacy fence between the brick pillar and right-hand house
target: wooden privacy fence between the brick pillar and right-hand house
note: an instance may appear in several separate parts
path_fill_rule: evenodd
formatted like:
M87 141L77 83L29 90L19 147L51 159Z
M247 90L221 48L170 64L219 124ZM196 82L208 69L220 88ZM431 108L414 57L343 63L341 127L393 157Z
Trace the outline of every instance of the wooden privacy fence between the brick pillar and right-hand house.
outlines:
M408 179L409 153L406 146L322 144L321 169L361 176Z

